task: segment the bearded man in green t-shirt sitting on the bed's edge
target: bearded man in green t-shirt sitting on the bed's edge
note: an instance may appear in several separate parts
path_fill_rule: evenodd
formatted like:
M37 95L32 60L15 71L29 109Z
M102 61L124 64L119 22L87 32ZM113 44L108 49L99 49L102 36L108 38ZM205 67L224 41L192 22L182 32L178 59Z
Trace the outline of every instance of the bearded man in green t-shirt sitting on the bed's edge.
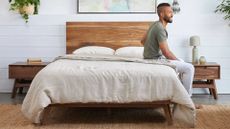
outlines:
M189 95L192 96L192 82L194 76L193 65L178 59L170 51L167 43L168 32L166 26L172 23L173 10L168 3L161 3L157 6L159 21L154 22L141 40L144 45L145 59L167 58L174 64L180 73L181 82Z

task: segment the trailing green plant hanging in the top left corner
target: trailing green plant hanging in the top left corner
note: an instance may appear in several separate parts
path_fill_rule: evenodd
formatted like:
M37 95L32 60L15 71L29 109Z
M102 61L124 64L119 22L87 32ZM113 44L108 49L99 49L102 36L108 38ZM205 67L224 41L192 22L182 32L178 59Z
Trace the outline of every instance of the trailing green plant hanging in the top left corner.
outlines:
M38 14L39 5L40 0L10 0L10 10L18 11L26 23L29 15Z

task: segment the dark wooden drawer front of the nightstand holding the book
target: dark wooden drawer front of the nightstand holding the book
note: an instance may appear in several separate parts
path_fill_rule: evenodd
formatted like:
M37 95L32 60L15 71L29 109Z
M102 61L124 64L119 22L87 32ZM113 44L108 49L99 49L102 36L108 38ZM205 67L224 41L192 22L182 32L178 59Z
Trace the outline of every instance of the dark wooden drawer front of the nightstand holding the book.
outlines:
M10 66L9 78L17 79L33 79L35 75L42 69L43 66Z

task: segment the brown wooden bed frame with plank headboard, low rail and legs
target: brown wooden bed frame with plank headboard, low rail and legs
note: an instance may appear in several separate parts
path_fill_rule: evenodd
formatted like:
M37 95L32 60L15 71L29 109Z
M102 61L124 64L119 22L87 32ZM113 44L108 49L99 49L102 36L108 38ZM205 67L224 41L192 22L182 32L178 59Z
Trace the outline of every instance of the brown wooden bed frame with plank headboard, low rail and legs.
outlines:
M141 38L150 22L67 22L66 53L84 46L106 46L118 49L125 46L141 46ZM46 115L53 106L68 107L105 107L105 108L156 108L162 107L168 125L173 124L170 100L132 103L65 103L50 104L44 112Z

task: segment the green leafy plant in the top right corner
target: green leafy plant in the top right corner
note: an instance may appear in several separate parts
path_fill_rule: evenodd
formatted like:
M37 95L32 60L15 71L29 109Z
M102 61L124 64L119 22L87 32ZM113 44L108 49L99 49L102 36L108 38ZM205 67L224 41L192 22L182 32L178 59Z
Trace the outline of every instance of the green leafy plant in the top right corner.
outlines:
M224 13L224 19L230 20L230 0L223 0L220 5L216 7L215 12Z

